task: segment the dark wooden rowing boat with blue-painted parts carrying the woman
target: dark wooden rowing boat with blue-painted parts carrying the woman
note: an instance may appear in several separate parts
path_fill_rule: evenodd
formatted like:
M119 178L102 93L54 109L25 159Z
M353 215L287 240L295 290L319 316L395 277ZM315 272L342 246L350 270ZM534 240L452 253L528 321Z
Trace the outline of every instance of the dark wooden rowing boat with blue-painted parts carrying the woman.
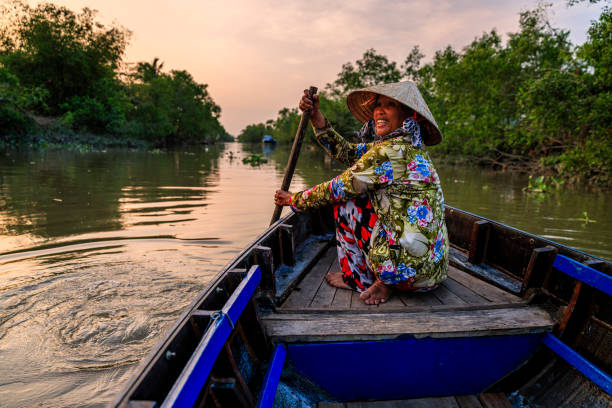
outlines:
M232 261L118 407L612 406L612 265L456 208L449 278L367 306L333 288L331 211Z

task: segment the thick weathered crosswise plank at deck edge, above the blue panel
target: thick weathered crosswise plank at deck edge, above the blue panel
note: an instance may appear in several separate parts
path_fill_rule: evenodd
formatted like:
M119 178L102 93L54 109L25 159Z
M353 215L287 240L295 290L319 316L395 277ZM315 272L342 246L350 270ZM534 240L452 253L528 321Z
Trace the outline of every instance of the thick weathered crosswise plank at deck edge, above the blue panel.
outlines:
M415 313L274 314L262 317L278 341L349 341L420 337L488 336L550 330L550 315L538 307Z

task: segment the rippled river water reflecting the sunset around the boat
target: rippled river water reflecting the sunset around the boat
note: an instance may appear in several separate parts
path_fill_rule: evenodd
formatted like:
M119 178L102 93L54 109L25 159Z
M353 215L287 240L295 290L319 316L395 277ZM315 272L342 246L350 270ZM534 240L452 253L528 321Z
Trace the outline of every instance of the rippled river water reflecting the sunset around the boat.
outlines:
M257 153L257 167L242 158ZM435 151L433 152L435 154ZM104 406L273 211L289 147L0 152L0 406ZM609 193L437 165L446 202L612 259ZM304 147L293 189L343 168ZM586 216L585 216L586 214Z

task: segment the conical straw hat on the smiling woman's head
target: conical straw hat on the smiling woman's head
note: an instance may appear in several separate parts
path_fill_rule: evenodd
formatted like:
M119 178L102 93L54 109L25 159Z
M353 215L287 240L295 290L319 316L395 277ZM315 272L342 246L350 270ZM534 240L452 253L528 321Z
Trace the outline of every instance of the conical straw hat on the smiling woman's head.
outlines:
M433 146L442 141L442 132L440 132L421 92L412 81L380 84L351 91L346 97L346 104L351 113L364 123L373 117L374 104L372 102L377 94L395 99L426 119L426 121L420 123L421 137L426 145Z

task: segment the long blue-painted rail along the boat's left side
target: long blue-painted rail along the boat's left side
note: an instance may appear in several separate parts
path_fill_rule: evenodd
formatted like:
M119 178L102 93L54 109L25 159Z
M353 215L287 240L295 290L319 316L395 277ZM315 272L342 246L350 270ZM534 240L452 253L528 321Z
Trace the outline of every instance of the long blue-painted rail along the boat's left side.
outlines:
M261 281L259 266L251 267L248 275L240 282L232 296L221 309L220 318L208 328L198 347L185 365L183 372L162 407L191 407L196 402L202 387L208 379L219 352L225 345L245 306L255 293Z

